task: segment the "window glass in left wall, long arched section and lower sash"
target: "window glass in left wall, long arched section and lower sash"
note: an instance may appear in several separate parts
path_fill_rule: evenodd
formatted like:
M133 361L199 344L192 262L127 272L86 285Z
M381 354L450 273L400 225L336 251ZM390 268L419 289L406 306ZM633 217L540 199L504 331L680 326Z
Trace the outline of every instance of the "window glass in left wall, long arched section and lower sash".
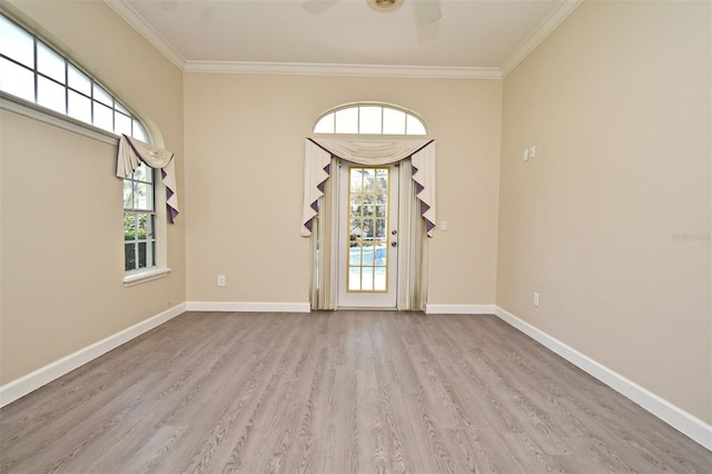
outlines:
M149 142L146 127L107 88L37 34L0 14L0 91L110 134ZM50 112L51 111L51 112ZM155 170L141 164L123 179L127 278L156 267ZM118 205L118 203L117 203ZM128 282L128 279L125 279Z

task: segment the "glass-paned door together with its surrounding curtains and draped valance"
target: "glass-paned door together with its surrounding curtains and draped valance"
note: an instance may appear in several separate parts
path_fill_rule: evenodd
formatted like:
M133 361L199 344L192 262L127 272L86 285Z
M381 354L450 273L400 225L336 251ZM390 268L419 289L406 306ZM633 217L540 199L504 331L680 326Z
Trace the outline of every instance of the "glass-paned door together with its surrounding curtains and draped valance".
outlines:
M424 308L435 155L432 139L305 140L313 309Z

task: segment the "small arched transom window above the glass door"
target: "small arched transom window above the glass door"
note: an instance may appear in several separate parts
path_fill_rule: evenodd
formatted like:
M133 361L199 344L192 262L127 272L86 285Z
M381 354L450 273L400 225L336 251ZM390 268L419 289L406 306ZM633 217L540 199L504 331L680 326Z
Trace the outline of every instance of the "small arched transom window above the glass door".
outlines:
M324 113L315 134L427 135L415 113L384 103L353 103Z

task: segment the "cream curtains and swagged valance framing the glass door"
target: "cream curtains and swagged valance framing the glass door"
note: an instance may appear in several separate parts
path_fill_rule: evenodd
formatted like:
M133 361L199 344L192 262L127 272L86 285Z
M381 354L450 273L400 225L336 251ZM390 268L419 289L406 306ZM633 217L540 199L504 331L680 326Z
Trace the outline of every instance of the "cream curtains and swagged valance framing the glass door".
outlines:
M301 235L312 238L312 308L334 309L337 305L333 282L338 247L338 179L329 177L337 175L338 159L367 166L399 164L397 306L422 309L427 278L425 236L432 237L435 228L435 141L363 139L305 141Z

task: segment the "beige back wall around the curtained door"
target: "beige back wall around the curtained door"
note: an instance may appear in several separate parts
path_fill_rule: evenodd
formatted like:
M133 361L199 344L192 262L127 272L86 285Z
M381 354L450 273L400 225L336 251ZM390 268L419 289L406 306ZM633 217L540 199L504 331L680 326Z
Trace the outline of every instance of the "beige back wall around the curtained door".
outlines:
M422 115L437 139L449 229L431 241L428 303L494 303L501 81L189 73L185 85L188 300L308 302L304 139L329 108L373 100Z

